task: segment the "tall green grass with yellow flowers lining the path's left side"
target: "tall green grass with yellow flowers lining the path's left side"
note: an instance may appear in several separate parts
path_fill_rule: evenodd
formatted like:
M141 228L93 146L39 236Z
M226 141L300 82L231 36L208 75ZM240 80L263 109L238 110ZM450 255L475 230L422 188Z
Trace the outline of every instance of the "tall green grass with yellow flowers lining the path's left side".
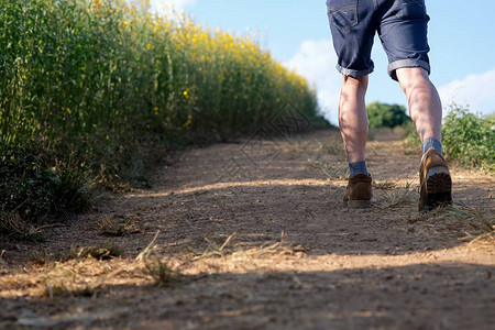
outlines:
M282 101L318 117L315 91L255 35L146 1L0 0L0 143L44 153L42 172L111 182L157 146L251 132Z

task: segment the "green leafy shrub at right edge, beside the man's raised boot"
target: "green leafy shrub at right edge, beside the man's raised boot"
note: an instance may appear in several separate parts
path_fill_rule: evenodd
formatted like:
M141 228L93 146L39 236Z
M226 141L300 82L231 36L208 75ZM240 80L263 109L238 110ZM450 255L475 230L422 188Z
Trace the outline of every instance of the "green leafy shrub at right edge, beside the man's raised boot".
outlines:
M451 106L442 128L444 154L466 166L495 170L495 117Z

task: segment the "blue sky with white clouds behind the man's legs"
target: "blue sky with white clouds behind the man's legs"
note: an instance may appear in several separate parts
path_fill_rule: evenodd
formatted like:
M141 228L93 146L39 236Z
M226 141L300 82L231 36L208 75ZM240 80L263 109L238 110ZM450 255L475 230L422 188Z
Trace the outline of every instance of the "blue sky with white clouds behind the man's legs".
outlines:
M327 19L326 0L151 0L160 11L173 2L197 22L224 31L258 31L261 45L317 87L326 117L337 122L341 76ZM495 111L495 1L426 0L431 47L431 80L444 108L455 101L483 114ZM406 106L387 73L387 58L375 40L367 102Z

